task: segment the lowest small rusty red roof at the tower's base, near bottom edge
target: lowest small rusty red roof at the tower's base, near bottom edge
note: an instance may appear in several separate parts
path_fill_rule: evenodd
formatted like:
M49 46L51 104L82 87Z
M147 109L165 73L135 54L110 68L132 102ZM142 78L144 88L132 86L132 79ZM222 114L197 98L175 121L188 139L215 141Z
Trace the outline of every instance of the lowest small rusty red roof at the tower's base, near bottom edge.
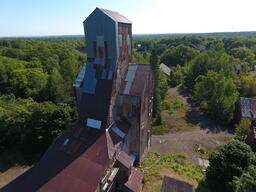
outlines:
M131 175L124 186L130 189L132 192L140 192L142 188L142 179L143 173L132 167Z

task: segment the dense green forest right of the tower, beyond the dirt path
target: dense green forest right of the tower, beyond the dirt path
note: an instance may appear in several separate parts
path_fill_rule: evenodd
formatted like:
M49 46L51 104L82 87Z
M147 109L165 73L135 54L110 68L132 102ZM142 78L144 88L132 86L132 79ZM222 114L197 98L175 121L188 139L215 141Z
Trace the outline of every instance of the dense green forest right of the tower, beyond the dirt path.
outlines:
M256 96L256 38L136 38L137 54L155 50L172 69L171 84L190 92L211 119L233 125L239 96ZM145 55L145 56L144 56Z

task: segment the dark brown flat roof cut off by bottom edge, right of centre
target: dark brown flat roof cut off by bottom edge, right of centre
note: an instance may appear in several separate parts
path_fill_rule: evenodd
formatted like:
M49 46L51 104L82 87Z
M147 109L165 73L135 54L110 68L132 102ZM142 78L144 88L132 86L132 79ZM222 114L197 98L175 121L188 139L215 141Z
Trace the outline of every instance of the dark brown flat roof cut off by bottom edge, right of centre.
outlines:
M193 186L183 181L165 176L161 192L193 192Z

